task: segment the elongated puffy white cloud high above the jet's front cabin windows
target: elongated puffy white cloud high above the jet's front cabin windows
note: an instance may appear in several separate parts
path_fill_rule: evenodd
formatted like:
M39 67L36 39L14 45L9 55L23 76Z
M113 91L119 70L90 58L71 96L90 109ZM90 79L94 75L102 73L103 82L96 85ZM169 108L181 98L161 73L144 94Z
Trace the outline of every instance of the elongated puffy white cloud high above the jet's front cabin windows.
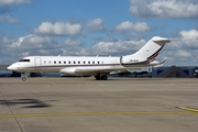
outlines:
M77 35L81 31L80 24L70 24L69 22L42 22L42 24L34 30L34 33L44 35Z

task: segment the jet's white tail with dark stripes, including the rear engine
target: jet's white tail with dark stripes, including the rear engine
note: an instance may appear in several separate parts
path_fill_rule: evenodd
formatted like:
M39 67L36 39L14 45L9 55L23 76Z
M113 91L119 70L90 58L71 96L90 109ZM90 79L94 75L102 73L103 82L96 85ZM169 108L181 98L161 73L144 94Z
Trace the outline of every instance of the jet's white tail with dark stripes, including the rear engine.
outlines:
M123 66L142 65L155 66L156 56L166 43L170 43L168 38L154 36L152 37L141 50L132 55L121 57L121 64ZM155 63L154 63L155 62ZM163 61L164 63L165 61ZM158 62L162 65L162 62Z

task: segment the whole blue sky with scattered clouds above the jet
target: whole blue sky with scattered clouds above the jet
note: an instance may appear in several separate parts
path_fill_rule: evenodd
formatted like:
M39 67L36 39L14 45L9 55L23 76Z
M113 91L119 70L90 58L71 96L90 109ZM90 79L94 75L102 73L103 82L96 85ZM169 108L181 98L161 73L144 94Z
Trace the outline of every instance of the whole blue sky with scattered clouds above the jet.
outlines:
M0 0L0 64L26 56L123 56L174 38L157 61L198 66L197 0Z

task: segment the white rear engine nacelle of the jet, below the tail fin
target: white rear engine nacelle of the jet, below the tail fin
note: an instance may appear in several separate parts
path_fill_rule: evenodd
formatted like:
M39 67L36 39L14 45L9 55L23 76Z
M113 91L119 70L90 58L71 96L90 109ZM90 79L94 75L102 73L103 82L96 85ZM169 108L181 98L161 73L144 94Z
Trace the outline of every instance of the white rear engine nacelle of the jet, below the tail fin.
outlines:
M146 59L142 58L134 58L132 56L121 56L120 57L120 64L123 66L133 66L133 65L139 65L142 63L146 63Z

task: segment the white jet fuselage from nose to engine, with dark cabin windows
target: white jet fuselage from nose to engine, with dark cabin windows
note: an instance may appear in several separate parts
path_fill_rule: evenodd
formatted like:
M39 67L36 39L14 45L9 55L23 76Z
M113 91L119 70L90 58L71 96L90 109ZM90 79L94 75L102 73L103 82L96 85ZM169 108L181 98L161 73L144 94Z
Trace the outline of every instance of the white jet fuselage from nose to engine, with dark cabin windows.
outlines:
M120 57L84 57L84 56L30 56L25 57L14 64L8 69L19 73L58 73L64 68L94 68L94 69L110 69L127 70L145 67L146 65L135 65L135 67L124 67L121 65ZM106 73L106 72L105 72ZM107 72L110 73L110 72ZM67 73L70 75L80 75L76 73ZM85 73L84 73L85 74ZM82 74L82 75L84 75ZM92 74L91 74L92 75Z

